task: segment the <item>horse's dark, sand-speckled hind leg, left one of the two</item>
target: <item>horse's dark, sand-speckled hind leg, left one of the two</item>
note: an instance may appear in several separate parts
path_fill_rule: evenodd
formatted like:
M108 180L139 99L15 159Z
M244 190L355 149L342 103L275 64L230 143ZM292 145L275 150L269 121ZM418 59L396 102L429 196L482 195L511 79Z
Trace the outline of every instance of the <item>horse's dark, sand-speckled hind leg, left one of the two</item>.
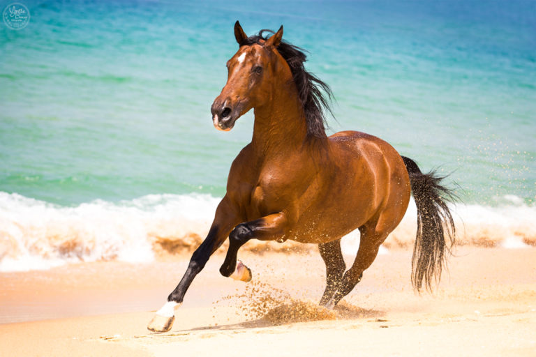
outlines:
M343 278L343 273L346 270L346 264L341 252L341 239L320 243L318 250L320 251L320 257L326 264L326 289L320 299L320 305L325 306L337 291L341 278Z

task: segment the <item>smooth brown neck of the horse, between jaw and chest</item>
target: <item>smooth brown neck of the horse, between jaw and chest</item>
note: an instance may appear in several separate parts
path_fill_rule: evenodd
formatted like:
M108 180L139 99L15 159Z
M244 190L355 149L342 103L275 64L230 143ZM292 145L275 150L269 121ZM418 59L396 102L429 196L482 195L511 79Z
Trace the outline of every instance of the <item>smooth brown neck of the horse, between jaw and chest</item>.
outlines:
M263 159L299 150L308 141L303 106L294 82L274 86L271 100L255 107L251 143Z

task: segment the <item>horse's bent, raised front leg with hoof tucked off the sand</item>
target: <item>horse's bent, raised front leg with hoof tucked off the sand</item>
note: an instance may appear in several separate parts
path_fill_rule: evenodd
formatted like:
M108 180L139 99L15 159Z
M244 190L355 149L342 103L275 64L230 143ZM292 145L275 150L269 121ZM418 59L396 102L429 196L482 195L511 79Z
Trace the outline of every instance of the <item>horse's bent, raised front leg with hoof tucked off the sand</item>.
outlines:
M251 271L241 262L237 265L239 248L253 238L261 241L284 241L287 228L288 222L283 213L274 213L234 227L229 234L229 249L220 268L221 275L230 278L235 278L233 275L237 275L239 280L251 280ZM242 267L246 268L247 272L242 271Z

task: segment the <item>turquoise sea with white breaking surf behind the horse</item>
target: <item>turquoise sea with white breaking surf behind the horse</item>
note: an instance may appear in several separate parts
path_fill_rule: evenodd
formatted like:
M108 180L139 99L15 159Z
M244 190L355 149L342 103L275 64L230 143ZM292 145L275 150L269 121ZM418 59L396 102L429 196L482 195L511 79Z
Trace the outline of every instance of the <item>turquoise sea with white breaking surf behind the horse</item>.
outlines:
M334 93L329 133L368 132L447 176L462 240L535 249L535 1L22 6L13 29L0 1L0 271L152 261L155 237L206 234L253 132L253 113L211 122L237 20L283 24L307 50Z

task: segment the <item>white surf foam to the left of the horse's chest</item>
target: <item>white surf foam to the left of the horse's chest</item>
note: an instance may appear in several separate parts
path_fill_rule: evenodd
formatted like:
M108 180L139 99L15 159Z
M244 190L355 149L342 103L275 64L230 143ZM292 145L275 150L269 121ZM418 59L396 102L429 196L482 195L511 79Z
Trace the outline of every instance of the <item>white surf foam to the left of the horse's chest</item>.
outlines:
M209 195L148 195L63 207L0 192L0 271L151 261L154 237L208 230L218 202Z

